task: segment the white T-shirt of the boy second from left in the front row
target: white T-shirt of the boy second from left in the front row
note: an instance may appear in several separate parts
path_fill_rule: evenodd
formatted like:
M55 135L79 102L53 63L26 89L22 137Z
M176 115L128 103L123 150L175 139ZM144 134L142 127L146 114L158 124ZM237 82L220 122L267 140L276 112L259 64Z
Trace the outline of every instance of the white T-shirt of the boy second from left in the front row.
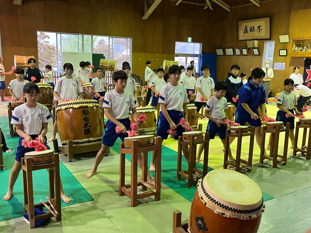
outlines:
M137 106L136 99L133 93L124 91L123 94L118 94L116 90L109 91L105 94L103 107L110 108L110 114L117 120L129 118L129 108Z

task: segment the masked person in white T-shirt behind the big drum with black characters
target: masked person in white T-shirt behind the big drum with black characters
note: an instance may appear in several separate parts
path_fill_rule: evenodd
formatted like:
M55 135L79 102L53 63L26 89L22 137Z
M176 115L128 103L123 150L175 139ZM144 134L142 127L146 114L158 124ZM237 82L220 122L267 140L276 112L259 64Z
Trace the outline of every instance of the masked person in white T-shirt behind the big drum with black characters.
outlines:
M64 102L65 99L79 100L82 98L83 90L81 83L72 77L73 66L71 63L65 63L63 69L66 73L65 76L59 78L56 81L54 96L58 99L58 104ZM56 138L57 132L57 113L55 116L55 122L53 125L53 136L48 140L53 141Z

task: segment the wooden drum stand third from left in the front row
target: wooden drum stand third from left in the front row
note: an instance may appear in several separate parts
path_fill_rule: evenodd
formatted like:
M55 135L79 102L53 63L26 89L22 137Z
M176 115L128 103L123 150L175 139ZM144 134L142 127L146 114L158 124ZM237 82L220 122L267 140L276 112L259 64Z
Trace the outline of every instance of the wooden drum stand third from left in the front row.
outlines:
M184 141L182 136L178 137L178 153L177 153L177 176L176 179L181 180L181 176L188 179L188 187L192 187L193 176L197 179L202 179L201 176L207 174L207 164L208 164L208 147L210 134L205 133L205 138L201 140L194 140L196 135L190 136L190 141ZM196 168L196 157L197 157L197 145L205 144L204 146L204 158L203 158L203 171ZM182 160L182 146L189 146L189 164L188 171L181 170L181 160ZM199 173L201 176L197 176L195 173Z

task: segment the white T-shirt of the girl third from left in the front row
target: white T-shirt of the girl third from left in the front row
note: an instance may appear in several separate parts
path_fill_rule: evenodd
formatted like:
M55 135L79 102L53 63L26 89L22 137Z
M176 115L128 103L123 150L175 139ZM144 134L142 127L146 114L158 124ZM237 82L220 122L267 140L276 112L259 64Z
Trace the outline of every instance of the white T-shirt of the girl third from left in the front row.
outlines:
M164 85L160 90L159 103L165 103L166 110L183 112L183 103L188 103L186 88L181 84Z

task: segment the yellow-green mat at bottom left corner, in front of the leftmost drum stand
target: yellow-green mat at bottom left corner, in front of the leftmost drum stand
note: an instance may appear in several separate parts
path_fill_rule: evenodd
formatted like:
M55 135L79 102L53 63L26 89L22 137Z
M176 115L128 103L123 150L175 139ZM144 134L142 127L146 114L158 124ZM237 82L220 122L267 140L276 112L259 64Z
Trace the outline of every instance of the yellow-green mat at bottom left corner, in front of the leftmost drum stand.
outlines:
M29 225L20 217L0 222L0 229L2 233L121 232L95 201L66 206L62 208L61 222L56 222L54 217L51 220L53 221L45 226L30 229Z

